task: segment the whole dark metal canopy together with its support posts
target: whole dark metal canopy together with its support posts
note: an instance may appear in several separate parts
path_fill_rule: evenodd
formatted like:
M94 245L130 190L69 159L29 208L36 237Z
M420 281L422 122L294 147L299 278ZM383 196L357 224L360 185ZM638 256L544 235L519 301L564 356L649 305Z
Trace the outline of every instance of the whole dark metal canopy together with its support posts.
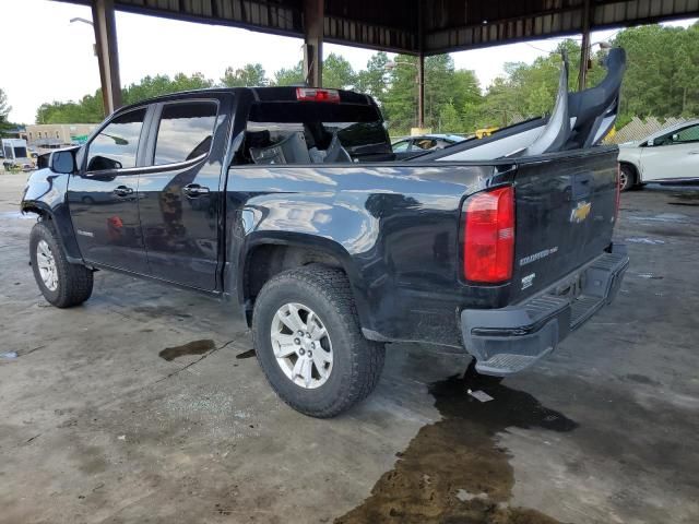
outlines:
M416 55L418 127L430 55L699 15L699 0L58 0L91 5L107 114L121 105L115 10L305 39L304 73L322 86L323 41Z

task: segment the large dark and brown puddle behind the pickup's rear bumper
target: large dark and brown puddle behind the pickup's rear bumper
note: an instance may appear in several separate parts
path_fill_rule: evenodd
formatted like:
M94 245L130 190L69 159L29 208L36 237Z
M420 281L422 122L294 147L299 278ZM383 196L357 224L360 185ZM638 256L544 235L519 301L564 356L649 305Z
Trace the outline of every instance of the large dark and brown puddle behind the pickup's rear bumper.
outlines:
M494 400L482 403L467 390ZM497 434L507 428L571 431L578 425L523 391L477 376L470 367L429 389L442 420L424 426L364 503L335 520L358 523L555 524L510 507L514 473Z

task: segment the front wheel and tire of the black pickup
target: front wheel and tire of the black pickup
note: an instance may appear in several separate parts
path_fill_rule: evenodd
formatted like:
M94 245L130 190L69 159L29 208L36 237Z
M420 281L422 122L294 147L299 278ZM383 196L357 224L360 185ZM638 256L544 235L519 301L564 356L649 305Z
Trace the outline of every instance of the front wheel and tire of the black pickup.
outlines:
M83 303L92 295L92 271L68 262L50 221L38 222L32 228L29 257L34 278L49 303L70 308Z

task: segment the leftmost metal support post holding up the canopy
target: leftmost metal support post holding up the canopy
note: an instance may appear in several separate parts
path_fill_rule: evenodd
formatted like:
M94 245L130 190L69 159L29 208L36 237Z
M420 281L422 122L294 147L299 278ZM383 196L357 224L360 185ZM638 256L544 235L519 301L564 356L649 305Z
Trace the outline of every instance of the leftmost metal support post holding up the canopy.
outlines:
M105 116L108 116L121 107L119 49L117 48L117 22L114 12L114 0L93 0L92 21L95 28L95 50L99 63L102 99Z

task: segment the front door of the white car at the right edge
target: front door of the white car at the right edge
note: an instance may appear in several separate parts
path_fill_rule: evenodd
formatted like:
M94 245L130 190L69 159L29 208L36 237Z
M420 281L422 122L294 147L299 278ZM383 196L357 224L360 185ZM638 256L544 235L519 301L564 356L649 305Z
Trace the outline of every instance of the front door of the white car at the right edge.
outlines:
M643 147L643 181L699 178L699 124L675 130Z

